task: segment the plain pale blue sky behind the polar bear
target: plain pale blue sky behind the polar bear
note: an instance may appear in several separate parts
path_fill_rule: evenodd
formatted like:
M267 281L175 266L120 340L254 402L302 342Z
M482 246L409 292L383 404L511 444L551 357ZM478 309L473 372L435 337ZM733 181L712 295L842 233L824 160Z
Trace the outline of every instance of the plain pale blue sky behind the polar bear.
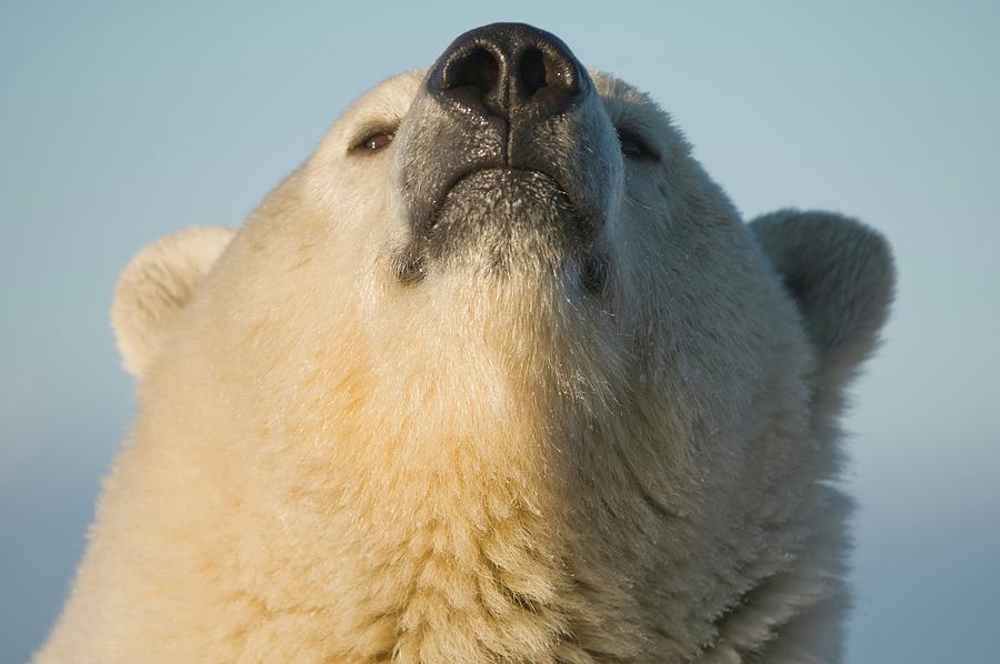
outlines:
M239 223L346 104L518 20L648 90L747 218L896 251L846 420L850 663L1000 662L1000 2L0 3L0 662L41 642L132 416L116 278Z

